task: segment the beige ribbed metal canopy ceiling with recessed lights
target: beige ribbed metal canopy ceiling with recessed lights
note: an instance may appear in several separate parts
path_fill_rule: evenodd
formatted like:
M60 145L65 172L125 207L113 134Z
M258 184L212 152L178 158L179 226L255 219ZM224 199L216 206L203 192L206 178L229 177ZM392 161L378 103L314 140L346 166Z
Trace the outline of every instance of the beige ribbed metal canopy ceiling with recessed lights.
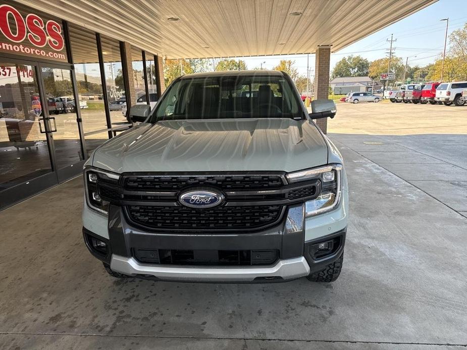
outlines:
M335 52L437 0L20 0L169 58ZM301 13L301 15L290 15ZM169 18L178 18L170 21Z

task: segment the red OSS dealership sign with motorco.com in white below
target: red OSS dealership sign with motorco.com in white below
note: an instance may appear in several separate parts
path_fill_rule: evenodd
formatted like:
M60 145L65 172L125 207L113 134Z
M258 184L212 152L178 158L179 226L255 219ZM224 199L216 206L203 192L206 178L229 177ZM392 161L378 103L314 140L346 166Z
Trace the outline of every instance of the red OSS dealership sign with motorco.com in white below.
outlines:
M67 61L62 26L36 14L23 16L11 5L0 5L0 51Z

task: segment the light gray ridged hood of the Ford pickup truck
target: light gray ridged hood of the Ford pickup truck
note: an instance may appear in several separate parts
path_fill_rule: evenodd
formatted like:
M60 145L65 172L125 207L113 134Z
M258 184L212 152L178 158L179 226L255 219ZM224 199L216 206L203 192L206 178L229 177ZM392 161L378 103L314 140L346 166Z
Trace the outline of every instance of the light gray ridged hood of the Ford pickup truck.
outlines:
M292 119L143 123L98 147L92 165L127 171L293 171L326 164L314 124Z

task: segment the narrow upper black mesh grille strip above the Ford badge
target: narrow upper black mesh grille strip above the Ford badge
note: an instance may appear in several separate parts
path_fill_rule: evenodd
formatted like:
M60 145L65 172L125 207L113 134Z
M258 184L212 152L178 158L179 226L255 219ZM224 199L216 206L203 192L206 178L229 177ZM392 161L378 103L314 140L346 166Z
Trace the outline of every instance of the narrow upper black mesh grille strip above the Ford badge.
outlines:
M125 179L125 189L178 191L194 186L214 186L224 191L278 189L284 184L277 175L138 176Z

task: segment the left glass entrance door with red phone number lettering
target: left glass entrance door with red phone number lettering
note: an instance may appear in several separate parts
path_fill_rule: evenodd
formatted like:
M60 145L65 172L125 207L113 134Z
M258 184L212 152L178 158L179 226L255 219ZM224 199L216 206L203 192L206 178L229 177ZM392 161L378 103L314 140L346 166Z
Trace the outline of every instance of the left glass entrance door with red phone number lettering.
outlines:
M0 191L51 171L42 116L34 67L0 64Z

